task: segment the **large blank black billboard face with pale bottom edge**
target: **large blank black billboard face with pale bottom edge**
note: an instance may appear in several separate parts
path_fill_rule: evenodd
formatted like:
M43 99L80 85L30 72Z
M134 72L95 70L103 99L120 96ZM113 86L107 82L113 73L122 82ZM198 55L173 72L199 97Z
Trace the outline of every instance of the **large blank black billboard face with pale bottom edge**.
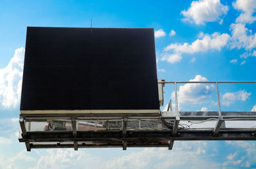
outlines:
M159 111L154 30L28 27L20 110Z

